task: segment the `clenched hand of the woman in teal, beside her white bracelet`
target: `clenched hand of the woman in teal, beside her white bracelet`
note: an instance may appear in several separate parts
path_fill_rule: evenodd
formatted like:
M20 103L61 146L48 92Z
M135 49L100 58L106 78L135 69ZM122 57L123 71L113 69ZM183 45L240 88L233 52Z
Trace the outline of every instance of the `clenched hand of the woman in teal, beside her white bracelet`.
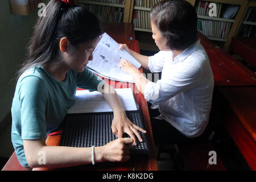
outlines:
M101 150L102 161L124 162L130 160L132 143L132 138L118 138L105 146L99 147L98 149ZM95 154L95 157L97 158L97 154Z

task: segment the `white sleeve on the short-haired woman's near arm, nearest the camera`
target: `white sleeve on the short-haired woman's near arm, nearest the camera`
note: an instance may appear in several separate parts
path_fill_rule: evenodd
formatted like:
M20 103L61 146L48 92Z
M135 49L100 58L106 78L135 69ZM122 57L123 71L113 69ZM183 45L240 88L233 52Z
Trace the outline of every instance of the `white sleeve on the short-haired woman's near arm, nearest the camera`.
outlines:
M200 76L201 69L198 65L184 65L156 83L148 82L144 89L144 98L154 105L160 104L176 94L195 87Z

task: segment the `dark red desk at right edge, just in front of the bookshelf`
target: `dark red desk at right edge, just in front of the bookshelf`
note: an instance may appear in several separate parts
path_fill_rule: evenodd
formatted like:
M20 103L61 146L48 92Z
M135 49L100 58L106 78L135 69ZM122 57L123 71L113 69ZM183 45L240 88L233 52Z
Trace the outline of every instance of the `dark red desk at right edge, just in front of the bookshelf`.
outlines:
M242 57L256 68L256 38L234 37L230 43L230 51Z

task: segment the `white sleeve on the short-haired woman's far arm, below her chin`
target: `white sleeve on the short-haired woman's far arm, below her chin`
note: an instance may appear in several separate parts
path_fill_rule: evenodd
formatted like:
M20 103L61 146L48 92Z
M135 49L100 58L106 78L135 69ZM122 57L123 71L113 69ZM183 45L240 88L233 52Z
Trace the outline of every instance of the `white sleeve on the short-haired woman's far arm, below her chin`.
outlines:
M166 53L166 51L159 51L154 56L148 57L148 68L151 73L159 73L163 70Z

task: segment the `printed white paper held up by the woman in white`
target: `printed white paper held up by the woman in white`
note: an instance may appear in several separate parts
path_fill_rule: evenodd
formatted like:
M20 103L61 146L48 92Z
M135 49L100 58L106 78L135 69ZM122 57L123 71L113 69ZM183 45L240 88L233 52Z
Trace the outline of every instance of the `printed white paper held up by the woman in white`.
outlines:
M136 68L141 67L141 64L133 56L125 49L119 50L119 44L104 33L93 51L93 60L89 61L87 67L102 77L123 82L134 82L133 77L119 67L121 59L130 61Z

